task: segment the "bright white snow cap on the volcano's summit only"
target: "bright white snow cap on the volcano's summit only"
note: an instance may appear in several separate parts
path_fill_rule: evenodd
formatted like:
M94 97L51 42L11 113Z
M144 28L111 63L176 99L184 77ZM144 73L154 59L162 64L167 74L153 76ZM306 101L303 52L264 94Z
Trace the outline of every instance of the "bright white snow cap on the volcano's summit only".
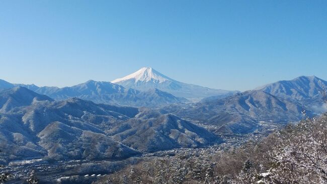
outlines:
M135 82L142 81L142 82L149 82L149 81L154 81L156 83L162 83L165 81L174 81L173 79L160 74L156 70L150 68L150 67L144 67L141 68L140 70L134 72L133 74L130 74L128 76L125 76L120 79L116 79L111 81L112 83L118 83L122 81L127 81L130 79L134 79Z

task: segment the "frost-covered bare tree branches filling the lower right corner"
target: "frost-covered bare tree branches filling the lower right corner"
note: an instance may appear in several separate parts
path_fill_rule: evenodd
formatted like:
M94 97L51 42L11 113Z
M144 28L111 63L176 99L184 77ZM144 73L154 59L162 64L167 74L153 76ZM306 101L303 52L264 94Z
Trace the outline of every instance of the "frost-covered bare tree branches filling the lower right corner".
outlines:
M327 115L306 118L279 132L271 151L274 183L327 183Z

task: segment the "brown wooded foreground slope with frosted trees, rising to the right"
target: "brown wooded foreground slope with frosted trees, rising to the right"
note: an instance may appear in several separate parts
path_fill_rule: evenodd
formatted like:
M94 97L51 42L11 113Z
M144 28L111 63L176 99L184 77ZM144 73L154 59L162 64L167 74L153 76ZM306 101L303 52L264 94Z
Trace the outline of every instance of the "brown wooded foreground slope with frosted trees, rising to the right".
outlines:
M95 183L325 183L326 138L323 114L228 151L208 148L143 159Z

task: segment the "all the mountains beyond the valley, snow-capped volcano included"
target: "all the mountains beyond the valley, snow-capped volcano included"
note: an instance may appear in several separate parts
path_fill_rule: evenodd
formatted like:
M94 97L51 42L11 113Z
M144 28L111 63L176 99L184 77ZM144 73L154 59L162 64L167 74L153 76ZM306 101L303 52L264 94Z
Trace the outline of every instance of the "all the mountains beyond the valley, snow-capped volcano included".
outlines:
M301 76L250 91L221 91L151 68L64 88L0 80L0 162L121 159L220 143L219 133L251 133L260 122L286 124L302 119L303 110L309 116L324 112L319 91L326 85ZM215 134L207 125L217 127Z

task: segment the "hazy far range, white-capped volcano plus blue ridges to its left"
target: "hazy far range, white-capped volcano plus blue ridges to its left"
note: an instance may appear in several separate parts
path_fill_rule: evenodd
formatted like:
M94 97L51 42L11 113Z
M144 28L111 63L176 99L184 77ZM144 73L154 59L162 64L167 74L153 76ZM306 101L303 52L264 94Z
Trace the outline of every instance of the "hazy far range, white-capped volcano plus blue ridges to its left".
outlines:
M17 86L26 87L54 100L78 97L97 103L138 107L159 107L167 104L186 103L190 102L189 100L199 100L212 95L223 98L237 92L178 82L152 68L142 68L131 75L112 82L89 80L85 83L63 88L38 87L34 84L12 84L0 80L0 89L10 89Z

